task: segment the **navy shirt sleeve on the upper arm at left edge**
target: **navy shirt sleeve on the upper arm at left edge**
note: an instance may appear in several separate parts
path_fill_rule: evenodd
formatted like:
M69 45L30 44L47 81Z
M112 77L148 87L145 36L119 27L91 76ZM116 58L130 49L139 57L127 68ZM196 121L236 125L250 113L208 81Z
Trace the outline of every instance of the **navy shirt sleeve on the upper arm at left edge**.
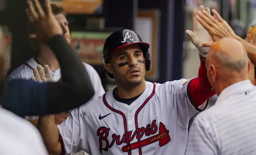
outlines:
M47 111L46 84L26 79L7 81L1 105L21 117L44 115Z

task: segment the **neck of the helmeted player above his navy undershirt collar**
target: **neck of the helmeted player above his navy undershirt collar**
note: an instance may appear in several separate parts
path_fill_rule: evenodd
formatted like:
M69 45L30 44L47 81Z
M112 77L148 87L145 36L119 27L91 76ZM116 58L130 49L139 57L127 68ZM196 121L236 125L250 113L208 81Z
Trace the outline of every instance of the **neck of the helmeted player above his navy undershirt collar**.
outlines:
M145 89L146 89L146 82L145 80L142 81L142 83L140 85L138 85L137 87L125 87L124 85L120 84L116 84L116 94L118 95L118 97L123 98L123 99L127 99L127 98L133 98L135 96L138 96L140 94L142 94Z

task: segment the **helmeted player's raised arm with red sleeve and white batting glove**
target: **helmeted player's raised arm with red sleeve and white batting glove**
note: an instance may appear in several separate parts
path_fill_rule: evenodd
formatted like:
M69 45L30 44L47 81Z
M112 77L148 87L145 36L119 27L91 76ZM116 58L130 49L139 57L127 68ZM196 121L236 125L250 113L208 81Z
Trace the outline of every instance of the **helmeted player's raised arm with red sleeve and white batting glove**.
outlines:
M204 11L210 15L210 9L204 9L204 6L200 6L198 11ZM196 46L200 54L198 77L191 79L187 83L188 98L195 108L201 106L206 102L206 100L215 94L208 81L205 67L206 55L208 54L209 47L199 47L200 43L211 42L212 39L207 30L196 20L196 13L197 10L195 9L193 11L193 32L186 30L186 33L190 36L191 42Z

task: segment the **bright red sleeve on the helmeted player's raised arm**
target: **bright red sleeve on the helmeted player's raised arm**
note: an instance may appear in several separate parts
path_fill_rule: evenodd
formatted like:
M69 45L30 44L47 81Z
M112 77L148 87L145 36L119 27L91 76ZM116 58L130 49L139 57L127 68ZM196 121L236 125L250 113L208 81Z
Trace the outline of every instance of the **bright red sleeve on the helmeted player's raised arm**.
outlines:
M213 95L215 92L208 81L205 63L201 61L198 77L188 83L188 96L192 104L198 107Z

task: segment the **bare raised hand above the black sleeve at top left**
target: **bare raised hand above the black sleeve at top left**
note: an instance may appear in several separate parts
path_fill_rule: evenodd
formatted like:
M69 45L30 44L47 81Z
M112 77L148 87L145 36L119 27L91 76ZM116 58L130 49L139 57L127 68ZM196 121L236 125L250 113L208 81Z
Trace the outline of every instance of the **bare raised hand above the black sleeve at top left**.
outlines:
M43 11L38 0L28 0L28 5L27 17L35 29L38 39L47 42L52 36L63 34L60 24L52 13L50 0L45 0L46 11Z

